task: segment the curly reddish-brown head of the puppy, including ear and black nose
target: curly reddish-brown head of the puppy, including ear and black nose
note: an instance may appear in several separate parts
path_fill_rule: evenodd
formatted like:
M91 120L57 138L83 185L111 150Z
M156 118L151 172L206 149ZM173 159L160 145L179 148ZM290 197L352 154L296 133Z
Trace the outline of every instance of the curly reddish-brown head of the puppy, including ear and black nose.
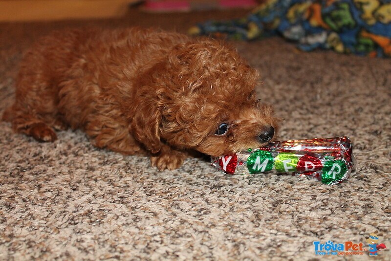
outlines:
M152 152L163 140L220 156L260 147L277 131L272 109L256 99L257 72L223 43L179 44L150 76L152 94L143 97L152 102L144 101L149 105L142 110L144 126L136 138Z

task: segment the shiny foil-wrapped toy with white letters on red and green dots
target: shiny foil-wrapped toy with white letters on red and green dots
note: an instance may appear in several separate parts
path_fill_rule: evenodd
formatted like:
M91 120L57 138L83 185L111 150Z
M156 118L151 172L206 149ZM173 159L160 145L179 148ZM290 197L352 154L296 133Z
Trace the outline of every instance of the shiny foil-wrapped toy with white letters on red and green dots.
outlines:
M349 177L354 157L344 136L270 142L259 149L212 157L212 165L228 174L292 173L334 185Z

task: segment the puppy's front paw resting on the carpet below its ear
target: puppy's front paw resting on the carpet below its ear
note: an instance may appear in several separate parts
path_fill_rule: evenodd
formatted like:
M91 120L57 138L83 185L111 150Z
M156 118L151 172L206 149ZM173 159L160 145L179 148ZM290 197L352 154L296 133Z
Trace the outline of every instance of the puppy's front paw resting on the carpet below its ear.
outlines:
M165 148L151 156L151 164L152 167L157 167L159 171L164 171L165 169L174 170L182 165L185 158L186 154L184 152Z

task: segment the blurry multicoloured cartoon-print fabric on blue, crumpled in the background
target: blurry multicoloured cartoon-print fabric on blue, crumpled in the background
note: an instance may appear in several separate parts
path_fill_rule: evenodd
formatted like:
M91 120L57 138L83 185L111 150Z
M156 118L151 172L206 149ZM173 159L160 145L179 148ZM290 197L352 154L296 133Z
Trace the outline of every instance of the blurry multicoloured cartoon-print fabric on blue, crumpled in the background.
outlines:
M266 0L245 18L209 21L189 32L239 40L280 34L304 51L391 57L391 0Z

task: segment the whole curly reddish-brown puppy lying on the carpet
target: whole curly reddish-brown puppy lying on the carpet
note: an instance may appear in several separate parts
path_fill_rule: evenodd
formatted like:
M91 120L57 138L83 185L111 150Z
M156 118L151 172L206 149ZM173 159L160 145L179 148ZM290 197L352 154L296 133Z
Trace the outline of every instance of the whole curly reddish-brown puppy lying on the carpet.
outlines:
M159 170L186 150L219 156L268 142L270 107L258 78L224 43L137 28L54 32L25 55L3 119L39 141L80 128L95 146L151 153Z

